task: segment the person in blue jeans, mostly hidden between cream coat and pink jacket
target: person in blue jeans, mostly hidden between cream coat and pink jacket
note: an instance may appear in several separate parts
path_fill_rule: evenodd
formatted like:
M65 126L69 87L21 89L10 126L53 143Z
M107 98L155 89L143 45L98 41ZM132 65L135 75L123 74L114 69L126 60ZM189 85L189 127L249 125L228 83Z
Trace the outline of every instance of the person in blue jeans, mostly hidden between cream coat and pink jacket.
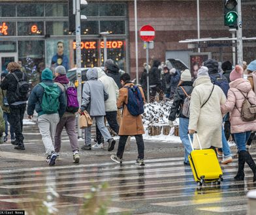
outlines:
M227 92L229 91L229 81L225 76L219 73L219 63L217 63L217 61L214 59L208 59L207 61L204 61L204 66L208 68L208 73L212 83L214 85L219 86L227 98ZM223 118L223 122L225 121L226 118L227 117ZM222 125L221 125L221 141L222 141L222 146L217 147L216 149L217 154L219 154L219 156L223 156L224 154L224 158L221 164L229 164L232 162L232 154L231 154L231 149L229 147L229 143L227 142L227 139L225 137L225 132Z

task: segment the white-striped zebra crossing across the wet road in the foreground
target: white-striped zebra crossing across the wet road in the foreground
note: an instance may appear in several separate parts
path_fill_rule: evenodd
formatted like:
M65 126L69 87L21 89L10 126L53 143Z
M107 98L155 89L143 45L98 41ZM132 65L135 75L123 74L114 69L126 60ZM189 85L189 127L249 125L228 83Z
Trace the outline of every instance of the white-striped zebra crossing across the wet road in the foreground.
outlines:
M256 154L256 153L252 153ZM114 162L103 164L68 165L56 167L19 168L0 171L0 205L5 203L35 201L29 195L48 194L45 187L53 187L61 196L58 208L69 207L71 199L81 199L91 189L91 184L108 181L108 194L113 206L109 211L126 212L136 208L132 205L145 204L154 211L162 212L162 208L179 208L184 205L193 212L207 213L217 210L232 210L231 205L239 202L242 214L246 213L246 193L255 188L251 170L247 167L246 179L235 182L232 177L237 171L237 162L223 165L224 182L221 186L208 184L197 190L191 168L183 165L184 158L159 158L145 160L145 167L137 167L133 161L125 165ZM5 195L22 191L23 195ZM105 194L98 194L103 196ZM225 203L221 205L219 203ZM14 205L12 204L12 207ZM119 207L116 207L119 205ZM127 207L130 205L130 207ZM138 206L138 205L137 205ZM194 208L193 206L197 206ZM146 207L146 208L147 208ZM112 209L111 209L112 208ZM65 209L63 209L65 210ZM149 211L150 212L150 211ZM114 213L114 212L113 212Z

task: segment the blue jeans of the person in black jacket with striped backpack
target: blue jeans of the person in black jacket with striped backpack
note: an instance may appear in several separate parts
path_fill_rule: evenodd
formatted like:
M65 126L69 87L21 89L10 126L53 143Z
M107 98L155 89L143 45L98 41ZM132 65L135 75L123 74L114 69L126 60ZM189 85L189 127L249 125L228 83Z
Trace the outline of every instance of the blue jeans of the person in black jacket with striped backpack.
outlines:
M185 163L189 162L189 154L192 151L191 145L189 143L189 137L187 136L187 132L189 131L189 119L180 117L180 139L182 140L182 143L185 148ZM191 141L193 141L193 136L191 135Z

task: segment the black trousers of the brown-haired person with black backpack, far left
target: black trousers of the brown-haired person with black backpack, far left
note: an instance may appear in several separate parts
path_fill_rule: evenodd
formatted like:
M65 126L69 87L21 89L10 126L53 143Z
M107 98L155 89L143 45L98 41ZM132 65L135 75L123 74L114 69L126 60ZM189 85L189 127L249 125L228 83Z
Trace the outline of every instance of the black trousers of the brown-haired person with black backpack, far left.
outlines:
M10 125L14 130L15 139L19 145L23 145L24 140L22 130L25 106L26 104L18 104L17 106L10 105Z

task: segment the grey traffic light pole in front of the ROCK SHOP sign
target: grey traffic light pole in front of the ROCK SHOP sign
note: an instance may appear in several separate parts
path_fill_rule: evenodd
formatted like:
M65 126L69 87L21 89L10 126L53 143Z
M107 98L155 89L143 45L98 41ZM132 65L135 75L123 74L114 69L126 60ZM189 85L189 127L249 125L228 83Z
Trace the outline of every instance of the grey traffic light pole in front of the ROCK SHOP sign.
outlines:
M81 71L81 14L80 14L80 0L73 0L75 1L76 5L76 79L78 80L78 87L77 87L77 98L79 102L79 106L81 107L82 104L82 71ZM77 118L78 119L78 118ZM78 120L77 120L78 122ZM79 128L78 125L78 139L82 137L82 130Z

